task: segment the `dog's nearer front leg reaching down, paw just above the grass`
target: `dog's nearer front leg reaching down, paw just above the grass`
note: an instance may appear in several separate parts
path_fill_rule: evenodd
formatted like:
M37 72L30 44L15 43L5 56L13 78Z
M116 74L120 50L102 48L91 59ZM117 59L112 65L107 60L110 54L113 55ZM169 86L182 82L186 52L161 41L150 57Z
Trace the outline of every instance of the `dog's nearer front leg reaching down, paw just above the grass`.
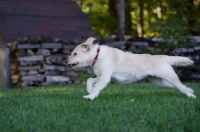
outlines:
M102 75L99 77L98 82L93 86L93 90L89 95L83 96L84 99L94 100L96 97L98 97L100 91L106 87L106 85L110 82L109 75Z

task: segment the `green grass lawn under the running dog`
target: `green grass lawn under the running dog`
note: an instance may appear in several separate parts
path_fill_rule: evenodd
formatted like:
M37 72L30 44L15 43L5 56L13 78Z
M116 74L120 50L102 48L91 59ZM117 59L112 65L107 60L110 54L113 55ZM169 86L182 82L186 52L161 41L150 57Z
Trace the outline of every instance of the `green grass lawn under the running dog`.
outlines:
M199 132L200 83L187 83L197 99L151 84L110 84L87 101L85 85L0 91L0 131Z

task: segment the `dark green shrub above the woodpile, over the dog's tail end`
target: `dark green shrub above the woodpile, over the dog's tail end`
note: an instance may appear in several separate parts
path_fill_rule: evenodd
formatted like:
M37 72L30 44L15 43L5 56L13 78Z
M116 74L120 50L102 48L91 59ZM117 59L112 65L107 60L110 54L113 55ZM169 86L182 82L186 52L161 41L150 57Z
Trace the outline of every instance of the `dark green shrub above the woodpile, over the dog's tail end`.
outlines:
M184 29L184 24L179 19L170 21L158 21L152 26L152 31L157 32L158 37L162 37L160 42L161 49L174 49L178 47L189 47L193 43L190 40L191 35Z

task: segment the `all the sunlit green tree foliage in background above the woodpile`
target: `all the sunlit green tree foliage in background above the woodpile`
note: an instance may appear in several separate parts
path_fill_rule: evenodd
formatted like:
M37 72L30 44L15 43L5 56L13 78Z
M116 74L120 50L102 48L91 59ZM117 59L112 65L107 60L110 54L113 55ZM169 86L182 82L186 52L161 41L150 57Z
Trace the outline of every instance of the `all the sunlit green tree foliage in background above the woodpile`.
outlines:
M74 1L80 3L80 0ZM96 35L105 36L118 34L119 20L109 13L109 1L111 0L83 1L82 10L88 15ZM152 36L156 33L160 37L165 37L166 34L172 33L175 35L173 37L176 37L176 33L178 32L179 35L182 35L181 33L183 30L186 30L191 35L200 34L200 18L197 17L200 16L200 3L198 0L143 0L141 5L138 1L133 0L126 0L125 2L130 8L133 35L137 35L138 19L140 17L138 8L140 6L142 6L143 9L142 28L144 36ZM117 3L117 5L118 4L119 3ZM117 5L115 7L116 10L119 7ZM161 24L161 30L152 31L151 26L154 24ZM172 26L169 27L169 25ZM181 28L177 29L177 25ZM172 29L167 29L166 34L163 34L162 28L166 29L167 27L165 26Z

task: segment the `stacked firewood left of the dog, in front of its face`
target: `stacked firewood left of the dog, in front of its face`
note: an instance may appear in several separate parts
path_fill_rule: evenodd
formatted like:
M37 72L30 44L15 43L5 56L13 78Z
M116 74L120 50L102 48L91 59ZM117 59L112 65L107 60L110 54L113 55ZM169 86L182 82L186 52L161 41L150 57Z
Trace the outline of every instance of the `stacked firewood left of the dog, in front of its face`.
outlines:
M80 72L63 65L66 59L81 42L60 40L25 41L18 40L12 46L11 70L14 86L44 86L52 84L80 83ZM80 43L79 43L80 44Z

